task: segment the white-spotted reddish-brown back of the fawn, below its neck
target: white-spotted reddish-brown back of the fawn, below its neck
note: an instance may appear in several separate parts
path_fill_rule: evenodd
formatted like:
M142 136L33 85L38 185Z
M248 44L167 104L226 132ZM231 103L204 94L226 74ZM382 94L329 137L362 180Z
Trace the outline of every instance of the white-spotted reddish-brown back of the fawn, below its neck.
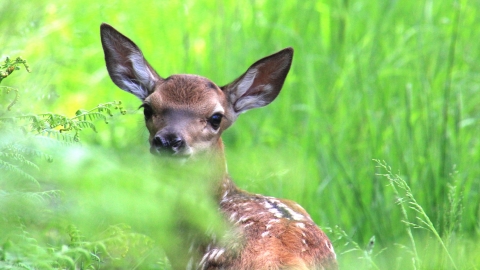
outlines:
M208 248L204 269L337 269L330 240L297 203L235 190L220 208L232 232Z

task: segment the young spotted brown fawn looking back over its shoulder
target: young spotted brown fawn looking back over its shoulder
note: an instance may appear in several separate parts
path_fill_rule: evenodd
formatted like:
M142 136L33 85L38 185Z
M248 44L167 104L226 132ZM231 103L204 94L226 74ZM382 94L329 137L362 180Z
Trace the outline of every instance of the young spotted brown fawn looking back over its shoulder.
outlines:
M163 78L128 37L106 23L100 32L111 80L142 101L150 152L186 162L206 155L216 164L212 194L206 195L213 197L235 237L206 245L197 269L338 268L331 241L299 204L244 191L227 171L222 133L241 113L276 99L292 64L291 47L217 86L199 75Z

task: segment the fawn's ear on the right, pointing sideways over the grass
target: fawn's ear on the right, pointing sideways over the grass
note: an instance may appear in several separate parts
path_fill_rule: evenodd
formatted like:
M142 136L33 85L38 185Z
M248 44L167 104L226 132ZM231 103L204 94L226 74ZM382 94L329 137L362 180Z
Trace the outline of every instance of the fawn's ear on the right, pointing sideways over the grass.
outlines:
M293 49L285 48L255 62L248 70L222 90L236 114L263 107L280 93L292 64Z

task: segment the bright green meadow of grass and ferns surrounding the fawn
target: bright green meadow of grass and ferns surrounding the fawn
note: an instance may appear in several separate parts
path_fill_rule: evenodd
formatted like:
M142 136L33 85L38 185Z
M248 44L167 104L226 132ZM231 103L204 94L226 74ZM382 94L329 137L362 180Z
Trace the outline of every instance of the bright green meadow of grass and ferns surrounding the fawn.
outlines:
M341 269L480 268L480 1L27 0L0 2L0 61L30 70L0 83L1 269L168 269L178 215L222 229L150 156L102 22L218 85L293 47L279 97L223 135L238 186L301 204Z

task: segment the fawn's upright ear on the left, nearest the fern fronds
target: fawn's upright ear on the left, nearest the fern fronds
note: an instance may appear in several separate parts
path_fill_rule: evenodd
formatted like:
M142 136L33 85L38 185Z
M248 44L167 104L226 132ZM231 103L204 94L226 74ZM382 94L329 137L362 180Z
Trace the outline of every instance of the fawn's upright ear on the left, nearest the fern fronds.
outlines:
M100 26L105 63L112 81L121 89L144 100L163 80L143 57L142 51L133 41L112 26Z

